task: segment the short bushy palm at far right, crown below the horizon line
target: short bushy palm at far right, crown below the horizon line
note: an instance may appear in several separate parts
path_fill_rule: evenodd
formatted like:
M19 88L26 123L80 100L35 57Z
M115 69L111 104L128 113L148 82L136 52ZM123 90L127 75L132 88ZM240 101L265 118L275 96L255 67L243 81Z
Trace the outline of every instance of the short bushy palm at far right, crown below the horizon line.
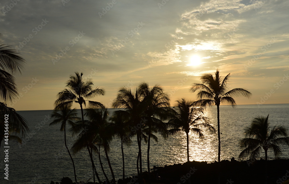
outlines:
M283 126L274 126L270 129L268 117L269 115L254 118L251 125L245 129L246 138L240 141L240 145L245 149L240 153L239 159L259 157L263 149L267 160L268 149L273 149L277 157L281 154L279 146L284 144L289 146L288 130Z

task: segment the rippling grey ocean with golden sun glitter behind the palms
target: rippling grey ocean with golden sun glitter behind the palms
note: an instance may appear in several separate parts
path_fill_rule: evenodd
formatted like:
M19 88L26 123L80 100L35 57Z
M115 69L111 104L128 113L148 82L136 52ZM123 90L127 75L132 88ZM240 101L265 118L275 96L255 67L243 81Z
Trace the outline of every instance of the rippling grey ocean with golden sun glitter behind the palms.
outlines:
M115 109L109 109L110 113ZM4 142L0 148L0 183L19 184L49 184L51 181L58 181L62 177L69 177L74 181L73 166L71 159L64 146L64 132L60 131L60 125L49 126L52 121L50 114L52 110L17 111L23 116L29 125L30 134L23 138L23 144L15 140L9 140L9 180L4 179ZM80 113L80 110L79 110ZM244 128L250 125L253 118L267 116L271 127L283 125L289 129L289 104L268 104L268 105L237 105L220 106L221 124L221 159L230 160L238 158L242 151L239 141L244 137ZM205 110L205 115L210 118L211 124L217 128L217 110L211 107ZM189 152L190 161L213 162L218 159L217 134L205 133L205 138L199 139L194 134L190 135ZM67 133L67 144L70 148L75 140ZM158 135L158 142L151 141L150 166L165 166L174 163L186 162L186 134L181 133L164 139ZM134 176L137 173L136 159L138 146L136 138L132 137L132 144L124 146L125 174ZM121 141L114 139L111 142L110 161L114 170L116 180L122 178L122 155ZM142 145L143 171L147 170L147 144ZM288 146L281 147L283 154L280 159L289 158ZM101 159L106 173L110 177L107 160L101 150ZM260 157L264 158L264 153ZM274 159L272 151L268 151L268 159ZM92 166L87 150L82 150L73 155L78 181L87 181L92 177ZM100 178L105 180L99 166L98 157L94 155L97 172ZM93 179L92 179L93 180ZM91 181L92 181L91 180Z

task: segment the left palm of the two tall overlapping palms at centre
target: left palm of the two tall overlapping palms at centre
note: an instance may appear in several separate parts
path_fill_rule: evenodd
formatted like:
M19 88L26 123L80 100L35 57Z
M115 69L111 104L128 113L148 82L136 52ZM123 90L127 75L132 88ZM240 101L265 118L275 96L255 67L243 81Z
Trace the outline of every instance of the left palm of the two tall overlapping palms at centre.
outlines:
M131 128L131 135L136 135L138 142L138 160L140 170L138 172L139 179L142 178L142 151L141 151L141 140L142 140L142 129L145 126L143 117L145 116L144 110L146 106L141 99L139 89L136 88L135 92L131 89L122 87L116 96L116 99L112 103L114 108L124 108L119 110L124 116L129 117L128 124ZM137 169L138 169L137 160Z

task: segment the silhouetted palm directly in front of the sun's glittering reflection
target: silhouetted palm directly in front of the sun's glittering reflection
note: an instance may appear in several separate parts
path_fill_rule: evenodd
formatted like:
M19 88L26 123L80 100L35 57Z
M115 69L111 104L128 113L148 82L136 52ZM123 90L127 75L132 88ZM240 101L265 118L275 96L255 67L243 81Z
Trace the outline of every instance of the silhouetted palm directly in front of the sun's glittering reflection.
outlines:
M215 133L215 128L209 124L208 118L203 114L201 107L194 106L194 102L182 98L176 101L176 107L174 107L173 117L168 121L168 126L171 129L168 130L169 134L179 133L184 131L187 138L187 159L189 159L189 132L192 131L199 135L199 138L203 138L202 128L207 129L210 133Z

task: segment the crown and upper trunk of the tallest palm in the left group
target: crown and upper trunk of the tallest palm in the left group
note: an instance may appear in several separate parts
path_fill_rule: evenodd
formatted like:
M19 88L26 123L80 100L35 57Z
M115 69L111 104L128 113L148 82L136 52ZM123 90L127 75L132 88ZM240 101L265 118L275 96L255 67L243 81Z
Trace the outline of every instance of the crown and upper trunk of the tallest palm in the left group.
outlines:
M86 98L93 98L99 95L105 95L103 88L95 88L92 90L93 82L91 79L84 80L82 79L83 73L79 74L75 72L75 75L71 75L70 79L66 82L66 87L58 93L58 99L55 101L55 109L61 105L72 105L74 102L80 105L82 121L84 121L84 114L82 104L86 106ZM97 108L103 108L103 104L95 101L88 101L90 106Z

